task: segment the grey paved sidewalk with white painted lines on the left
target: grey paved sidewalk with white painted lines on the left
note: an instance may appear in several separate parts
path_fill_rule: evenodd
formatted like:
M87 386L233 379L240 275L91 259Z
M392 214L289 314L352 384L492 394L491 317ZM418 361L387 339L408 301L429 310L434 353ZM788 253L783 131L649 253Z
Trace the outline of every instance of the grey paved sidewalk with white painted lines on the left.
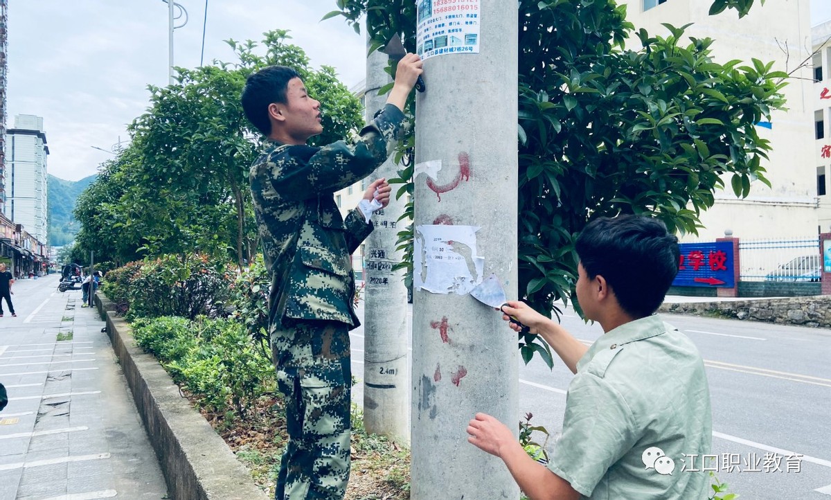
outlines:
M0 500L167 498L105 323L58 279L12 285L17 317L2 304Z

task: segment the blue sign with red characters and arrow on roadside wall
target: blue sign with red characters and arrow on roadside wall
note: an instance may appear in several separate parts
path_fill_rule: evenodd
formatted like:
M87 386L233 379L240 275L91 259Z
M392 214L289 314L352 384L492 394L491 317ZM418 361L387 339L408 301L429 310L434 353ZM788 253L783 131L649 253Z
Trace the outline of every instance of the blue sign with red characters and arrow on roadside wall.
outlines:
M673 287L735 287L732 242L680 243L681 262Z

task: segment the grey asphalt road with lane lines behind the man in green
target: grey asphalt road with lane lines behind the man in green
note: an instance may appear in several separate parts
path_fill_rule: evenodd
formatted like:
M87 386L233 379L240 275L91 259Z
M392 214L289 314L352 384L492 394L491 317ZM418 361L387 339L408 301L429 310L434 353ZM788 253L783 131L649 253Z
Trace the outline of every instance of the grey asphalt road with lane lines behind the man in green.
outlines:
M689 336L705 360L715 455L709 468L730 492L761 500L831 497L831 332L698 316L664 319ZM572 310L565 311L563 326L587 344L602 335L599 325ZM514 334L506 327L506 335ZM358 380L363 340L362 328L352 331ZM553 370L538 358L520 362L519 411L534 414L532 424L552 434L549 449L563 426L571 378L556 360ZM361 385L353 391L360 403Z

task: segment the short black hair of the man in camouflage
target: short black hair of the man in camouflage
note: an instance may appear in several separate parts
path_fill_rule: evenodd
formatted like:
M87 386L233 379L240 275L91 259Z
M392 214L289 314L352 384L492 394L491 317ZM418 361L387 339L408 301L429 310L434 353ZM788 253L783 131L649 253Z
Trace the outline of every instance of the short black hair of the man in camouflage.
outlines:
M268 66L248 76L243 88L243 110L257 130L271 135L268 105L286 103L288 81L300 78L300 73L288 66Z

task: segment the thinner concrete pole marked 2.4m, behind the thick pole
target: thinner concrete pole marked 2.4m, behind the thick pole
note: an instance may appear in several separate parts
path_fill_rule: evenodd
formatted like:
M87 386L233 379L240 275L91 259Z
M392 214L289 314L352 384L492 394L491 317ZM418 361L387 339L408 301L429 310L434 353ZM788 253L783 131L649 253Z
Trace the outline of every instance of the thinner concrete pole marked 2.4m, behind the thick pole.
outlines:
M391 81L384 71L388 59L380 51L366 57L368 119L386 102L386 96L378 96L378 89ZM369 180L397 176L396 165L387 159ZM396 189L393 185L393 196ZM366 432L390 436L401 444L410 443L407 289L404 272L393 272L391 267L404 257L404 252L396 251L396 239L403 228L404 223L397 221L405 203L392 199L372 216L376 228L366 238L364 252L364 426Z

